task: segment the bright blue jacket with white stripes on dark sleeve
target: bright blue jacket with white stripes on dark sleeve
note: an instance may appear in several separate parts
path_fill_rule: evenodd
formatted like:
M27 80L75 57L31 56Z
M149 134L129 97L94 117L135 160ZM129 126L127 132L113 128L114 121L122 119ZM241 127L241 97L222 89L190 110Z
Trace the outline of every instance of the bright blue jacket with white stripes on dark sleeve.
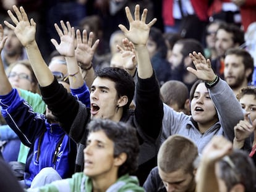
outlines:
M85 86L80 91L83 93L75 94L75 98L83 102L89 101L86 105L90 105L88 88ZM20 141L30 147L24 174L26 185L30 186L35 175L45 167L53 167L62 178L71 177L74 173L77 145L59 124L50 124L45 115L35 113L15 89L0 96L0 105L8 125L19 136Z

